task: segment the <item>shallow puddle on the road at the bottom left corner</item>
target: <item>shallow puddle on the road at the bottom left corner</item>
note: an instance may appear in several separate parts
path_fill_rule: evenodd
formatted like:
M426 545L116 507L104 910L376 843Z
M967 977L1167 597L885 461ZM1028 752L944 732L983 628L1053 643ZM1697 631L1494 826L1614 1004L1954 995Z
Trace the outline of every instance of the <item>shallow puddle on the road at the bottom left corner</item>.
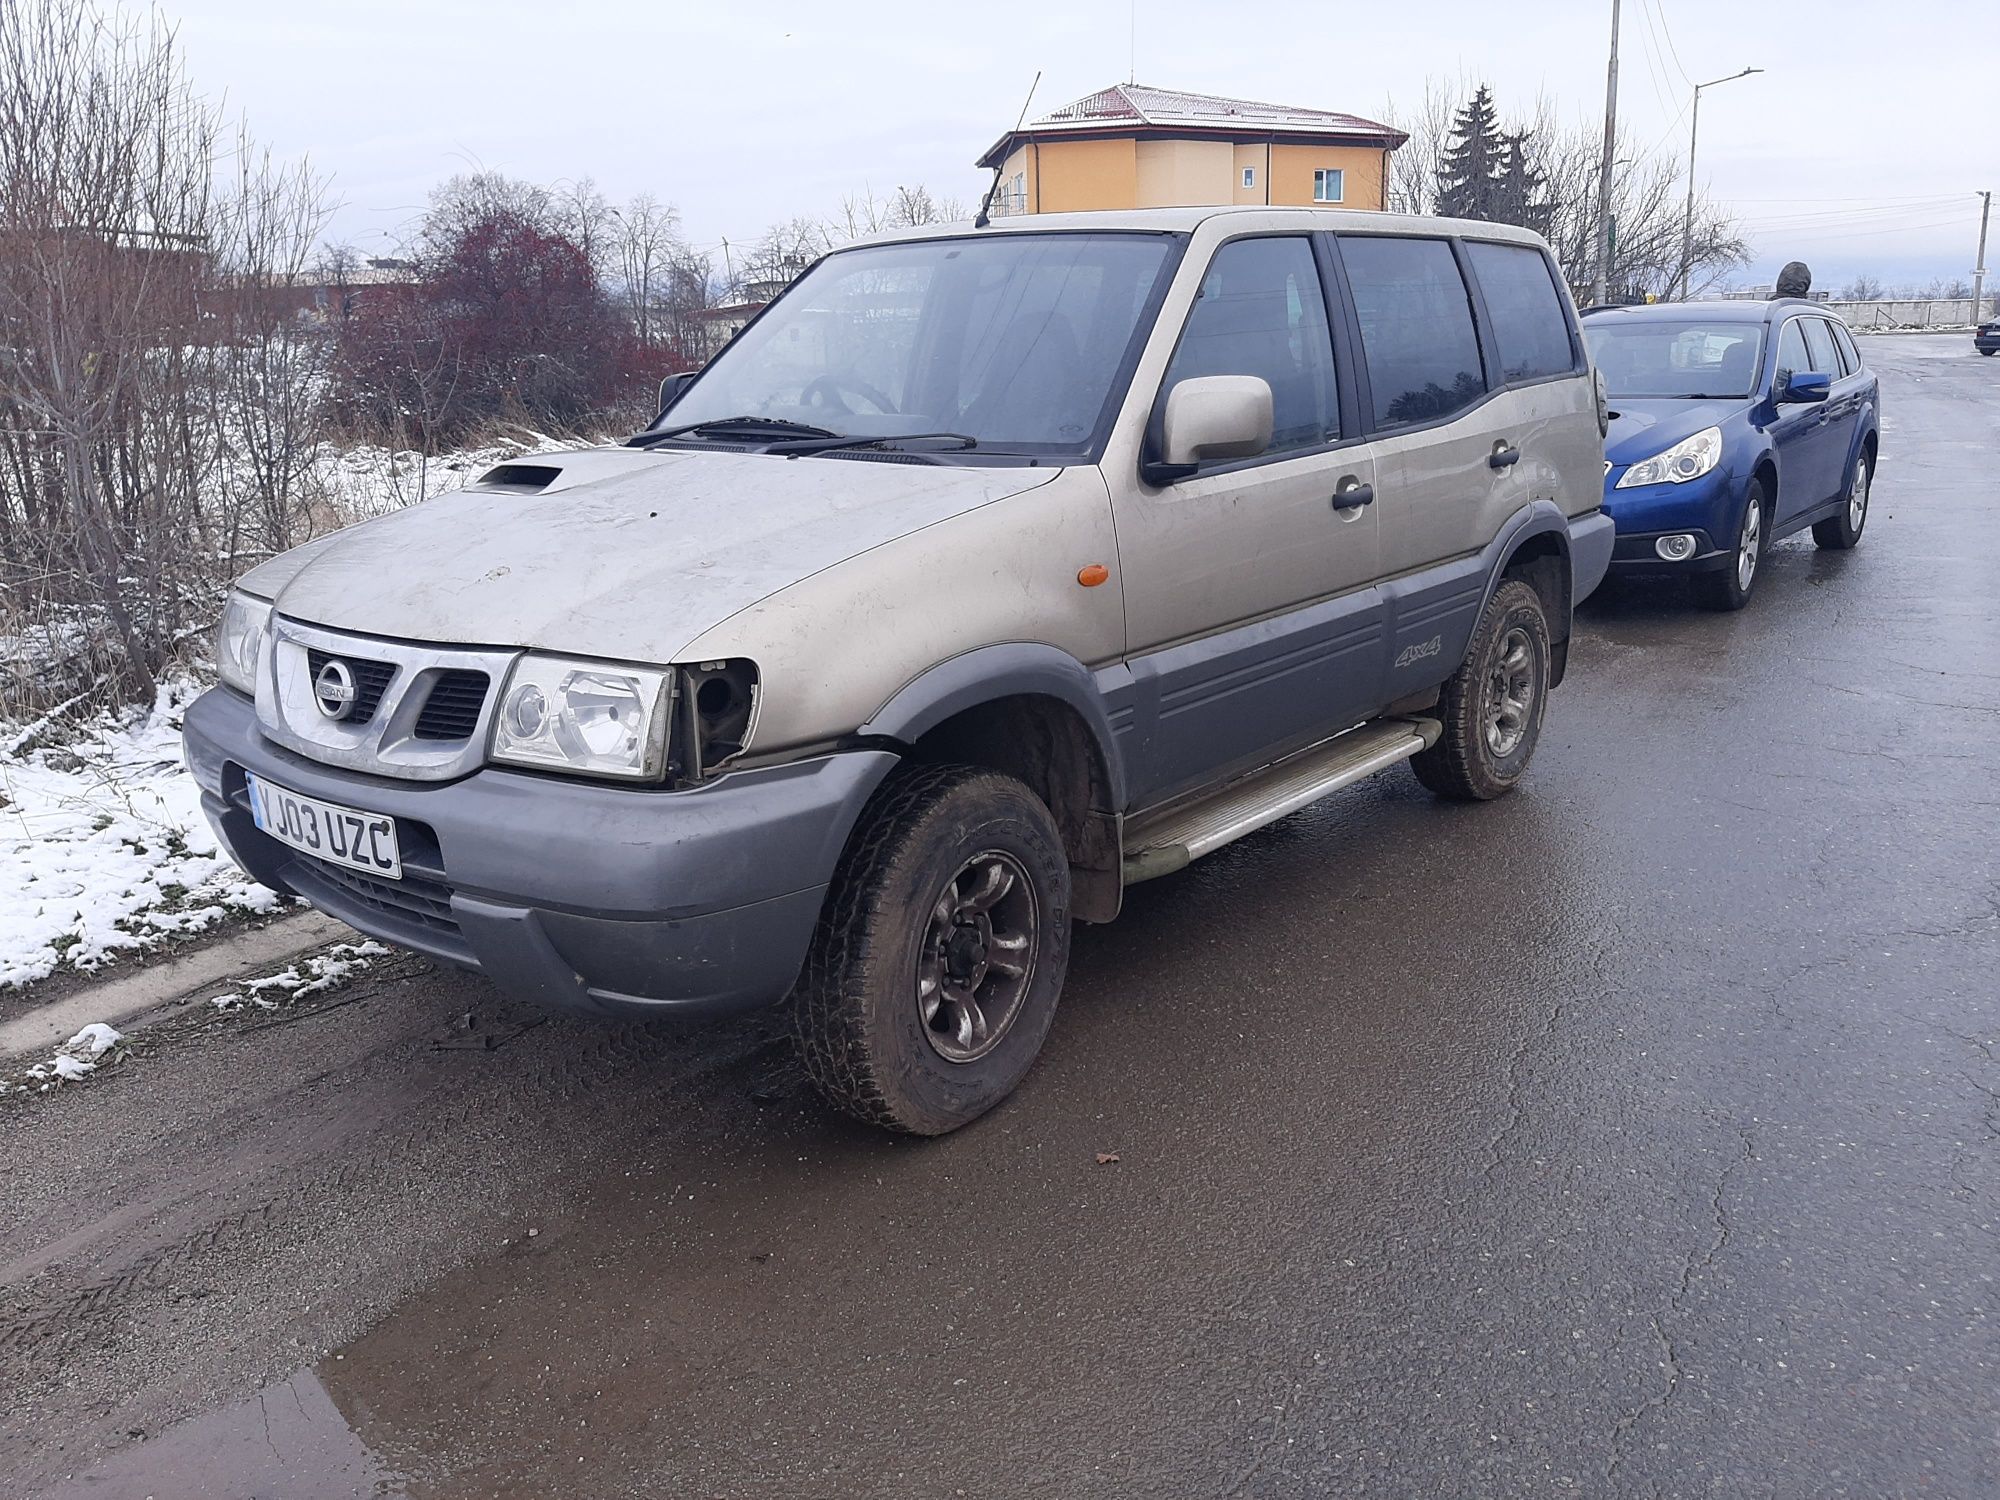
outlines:
M312 1370L132 1442L36 1500L394 1500L396 1474L340 1416Z

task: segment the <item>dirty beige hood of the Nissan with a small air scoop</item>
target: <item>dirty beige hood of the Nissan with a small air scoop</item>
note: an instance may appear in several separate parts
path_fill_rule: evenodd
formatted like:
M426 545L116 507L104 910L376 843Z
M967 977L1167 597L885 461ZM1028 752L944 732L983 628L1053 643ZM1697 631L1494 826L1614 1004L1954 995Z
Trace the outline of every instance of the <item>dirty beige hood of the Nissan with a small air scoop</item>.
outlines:
M638 448L536 454L294 548L242 586L332 630L664 664L800 578L1060 472Z

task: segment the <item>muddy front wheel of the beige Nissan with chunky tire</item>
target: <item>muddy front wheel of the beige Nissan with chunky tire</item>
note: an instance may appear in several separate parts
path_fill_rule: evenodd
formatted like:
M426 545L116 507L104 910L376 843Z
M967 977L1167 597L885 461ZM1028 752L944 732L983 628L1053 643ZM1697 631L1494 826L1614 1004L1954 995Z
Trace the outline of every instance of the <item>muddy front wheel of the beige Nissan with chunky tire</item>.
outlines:
M996 868L1008 884L982 940L980 912L962 898L996 882ZM954 948L964 974L940 968L946 908L958 912L942 924L954 936L970 912L972 938ZM1026 974L1006 1016L994 1002L996 1014L980 1022L990 1036L974 1032L966 1016L982 1014L976 994L988 986L966 980L1008 978L1002 968L1016 958L1000 950L1030 924ZM966 958L972 950L976 960ZM940 1136L986 1114L1028 1074L1068 966L1070 864L1042 800L978 766L906 766L868 804L828 886L792 996L792 1034L830 1104L886 1130ZM962 1004L938 1004L938 974ZM954 1048L978 1056L954 1060Z

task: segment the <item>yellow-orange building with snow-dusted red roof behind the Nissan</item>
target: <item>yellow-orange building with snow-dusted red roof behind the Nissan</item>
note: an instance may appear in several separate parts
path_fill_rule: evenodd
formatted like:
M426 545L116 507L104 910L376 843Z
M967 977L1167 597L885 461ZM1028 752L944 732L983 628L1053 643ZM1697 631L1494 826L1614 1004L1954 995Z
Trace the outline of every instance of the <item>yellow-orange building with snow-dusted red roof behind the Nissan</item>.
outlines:
M1340 204L1382 208L1388 154L1410 136L1376 120L1146 84L1114 84L1000 136L994 212Z

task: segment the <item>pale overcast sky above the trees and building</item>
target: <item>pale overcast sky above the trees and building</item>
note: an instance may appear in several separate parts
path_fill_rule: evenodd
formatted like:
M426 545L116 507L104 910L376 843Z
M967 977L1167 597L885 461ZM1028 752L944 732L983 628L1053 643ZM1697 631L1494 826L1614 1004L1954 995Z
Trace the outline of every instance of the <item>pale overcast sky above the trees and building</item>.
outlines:
M972 160L1012 126L1036 68L1030 114L1136 68L1148 84L1368 116L1414 104L1426 76L1470 76L1502 110L1546 92L1602 120L1610 30L1610 0L162 8L202 88L334 178L334 236L368 254L396 244L436 180L474 166L588 174L614 200L652 192L704 248L864 186L976 200ZM1766 70L1702 94L1698 176L1750 230L1746 280L1794 256L1822 286L1972 268L1976 190L2000 190L1994 0L1626 0L1620 52L1620 120L1662 152L1688 148L1690 78Z

